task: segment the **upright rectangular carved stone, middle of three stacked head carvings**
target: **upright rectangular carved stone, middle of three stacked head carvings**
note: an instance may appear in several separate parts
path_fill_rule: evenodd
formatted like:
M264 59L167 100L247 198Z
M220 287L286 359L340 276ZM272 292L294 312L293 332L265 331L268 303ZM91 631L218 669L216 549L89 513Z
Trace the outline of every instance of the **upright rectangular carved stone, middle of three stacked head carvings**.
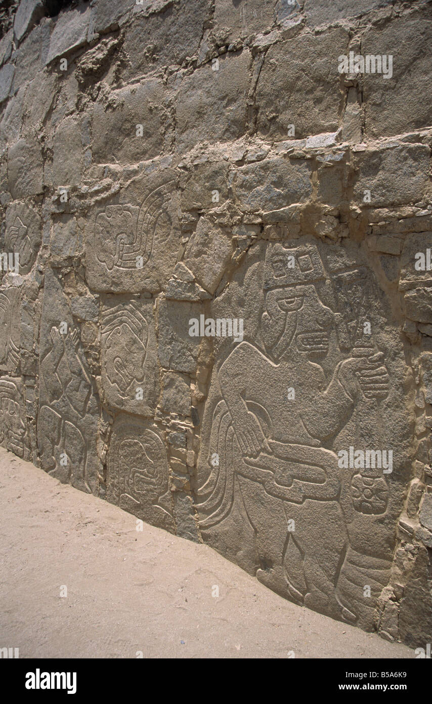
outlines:
M107 296L101 320L102 386L106 403L151 417L160 394L153 301Z

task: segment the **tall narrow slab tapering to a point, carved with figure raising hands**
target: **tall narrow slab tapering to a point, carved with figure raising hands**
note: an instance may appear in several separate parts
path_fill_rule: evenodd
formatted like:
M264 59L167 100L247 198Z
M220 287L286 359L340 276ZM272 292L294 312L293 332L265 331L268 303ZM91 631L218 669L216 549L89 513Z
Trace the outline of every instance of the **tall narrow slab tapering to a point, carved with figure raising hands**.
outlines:
M99 403L61 284L46 269L39 360L37 439L42 469L81 491L99 492Z

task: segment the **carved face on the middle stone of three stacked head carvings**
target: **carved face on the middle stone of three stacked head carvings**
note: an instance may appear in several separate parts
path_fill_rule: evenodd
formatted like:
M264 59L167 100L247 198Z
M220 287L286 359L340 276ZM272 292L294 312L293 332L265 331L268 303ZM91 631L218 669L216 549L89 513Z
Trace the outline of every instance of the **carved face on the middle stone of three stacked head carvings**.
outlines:
M144 380L146 345L123 323L110 333L106 341L106 374L111 384L126 392L133 382Z

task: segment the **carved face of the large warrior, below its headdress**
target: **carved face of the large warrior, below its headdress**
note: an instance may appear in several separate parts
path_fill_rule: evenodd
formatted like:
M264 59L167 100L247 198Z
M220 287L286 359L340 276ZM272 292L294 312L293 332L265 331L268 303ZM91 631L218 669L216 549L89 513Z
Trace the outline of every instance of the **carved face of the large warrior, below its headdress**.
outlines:
M315 285L273 289L265 298L262 332L267 347L281 359L288 348L308 355L325 356L333 313L319 300Z

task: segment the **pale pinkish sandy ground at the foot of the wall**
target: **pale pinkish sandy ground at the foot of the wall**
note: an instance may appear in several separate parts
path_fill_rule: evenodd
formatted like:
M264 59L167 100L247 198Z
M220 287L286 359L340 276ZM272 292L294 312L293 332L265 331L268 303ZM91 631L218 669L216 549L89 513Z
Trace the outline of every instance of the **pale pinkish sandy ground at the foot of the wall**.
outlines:
M0 647L20 658L414 658L1 448L0 512Z

